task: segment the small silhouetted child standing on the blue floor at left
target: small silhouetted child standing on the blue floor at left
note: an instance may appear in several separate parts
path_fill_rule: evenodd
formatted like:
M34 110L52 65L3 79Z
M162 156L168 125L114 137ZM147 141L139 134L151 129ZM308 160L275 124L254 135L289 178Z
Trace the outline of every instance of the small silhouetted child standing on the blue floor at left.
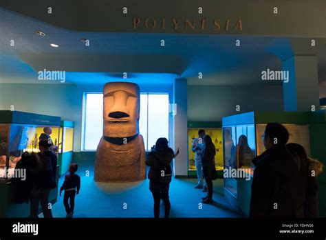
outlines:
M60 188L60 196L61 192L65 190L65 194L63 195L63 205L65 206L65 211L67 212L66 217L72 217L74 214L75 196L76 193L79 194L80 190L80 177L78 174L75 174L77 170L78 165L76 163L70 164L70 174L65 175L65 181L63 182L63 186Z

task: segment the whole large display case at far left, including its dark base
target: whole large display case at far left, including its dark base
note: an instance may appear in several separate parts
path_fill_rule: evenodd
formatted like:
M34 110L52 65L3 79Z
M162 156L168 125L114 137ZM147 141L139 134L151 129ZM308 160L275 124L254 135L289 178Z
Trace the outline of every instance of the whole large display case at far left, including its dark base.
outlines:
M60 117L0 110L0 217L28 217L28 204L13 204L10 179L17 177L14 168L23 152L39 152L39 137L43 128L52 128L50 137L54 149L58 148L60 124ZM50 201L56 201L57 195L58 189L55 188L50 192Z

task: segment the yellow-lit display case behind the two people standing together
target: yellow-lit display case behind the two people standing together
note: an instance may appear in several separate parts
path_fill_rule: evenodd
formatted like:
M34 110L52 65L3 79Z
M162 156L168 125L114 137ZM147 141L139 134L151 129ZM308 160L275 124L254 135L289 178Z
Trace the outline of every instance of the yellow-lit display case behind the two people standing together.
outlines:
M216 149L215 168L222 174L224 169L223 161L223 141L221 122L188 122L188 175L197 176L195 166L195 152L191 150L193 139L198 137L198 131L205 130L206 134L212 137Z

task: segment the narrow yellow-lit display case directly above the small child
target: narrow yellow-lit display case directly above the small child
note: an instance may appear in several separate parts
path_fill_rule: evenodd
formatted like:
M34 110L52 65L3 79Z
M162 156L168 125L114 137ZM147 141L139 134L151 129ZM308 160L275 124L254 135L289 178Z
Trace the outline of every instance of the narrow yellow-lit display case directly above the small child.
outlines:
M74 142L74 122L61 121L59 148L58 148L58 164L59 175L68 171L70 163L72 163L72 148Z

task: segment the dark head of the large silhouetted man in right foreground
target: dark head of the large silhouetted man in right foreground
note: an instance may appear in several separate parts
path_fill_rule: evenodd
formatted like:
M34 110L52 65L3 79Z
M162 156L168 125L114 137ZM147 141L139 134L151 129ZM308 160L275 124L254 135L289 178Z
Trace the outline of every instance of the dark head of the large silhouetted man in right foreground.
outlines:
M274 146L285 146L289 140L289 132L280 123L268 123L263 134L263 146L270 149Z

